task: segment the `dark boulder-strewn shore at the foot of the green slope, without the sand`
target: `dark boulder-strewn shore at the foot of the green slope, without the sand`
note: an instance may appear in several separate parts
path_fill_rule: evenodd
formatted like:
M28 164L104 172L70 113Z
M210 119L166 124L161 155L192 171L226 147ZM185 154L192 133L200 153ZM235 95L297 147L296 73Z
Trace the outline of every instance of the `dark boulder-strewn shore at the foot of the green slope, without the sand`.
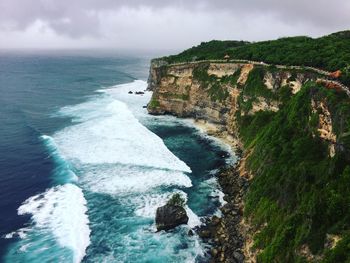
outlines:
M243 196L248 188L248 180L240 176L239 167L240 160L219 171L217 177L227 203L221 207L221 218L213 216L198 230L199 236L212 246L210 262L245 262L241 222Z

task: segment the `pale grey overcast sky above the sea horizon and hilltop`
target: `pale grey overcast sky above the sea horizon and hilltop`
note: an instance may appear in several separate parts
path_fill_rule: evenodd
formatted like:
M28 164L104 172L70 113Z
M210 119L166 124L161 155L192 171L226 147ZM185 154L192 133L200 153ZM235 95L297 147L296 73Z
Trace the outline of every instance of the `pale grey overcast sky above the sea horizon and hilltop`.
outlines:
M0 0L0 48L181 50L350 29L350 0Z

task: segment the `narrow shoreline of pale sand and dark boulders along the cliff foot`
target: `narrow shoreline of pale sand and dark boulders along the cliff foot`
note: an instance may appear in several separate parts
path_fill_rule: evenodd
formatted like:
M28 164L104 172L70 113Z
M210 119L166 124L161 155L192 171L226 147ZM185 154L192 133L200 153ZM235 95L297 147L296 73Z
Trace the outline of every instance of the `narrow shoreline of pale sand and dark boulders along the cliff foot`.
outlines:
M243 196L249 186L249 176L245 171L245 158L242 158L242 144L224 126L191 120L195 128L228 146L237 158L234 163L221 167L216 175L224 193L225 203L220 207L222 216L212 216L198 229L199 236L211 244L210 262L255 262L250 255L249 226L243 219Z

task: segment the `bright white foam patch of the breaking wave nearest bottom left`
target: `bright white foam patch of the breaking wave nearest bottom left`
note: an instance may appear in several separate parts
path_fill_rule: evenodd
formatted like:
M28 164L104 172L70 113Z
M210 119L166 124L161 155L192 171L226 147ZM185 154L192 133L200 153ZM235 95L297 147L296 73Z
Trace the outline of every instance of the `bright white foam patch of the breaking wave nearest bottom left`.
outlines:
M80 262L90 244L89 220L82 190L65 184L27 199L18 214L31 214L33 227L52 232L62 247L74 252L74 262Z

